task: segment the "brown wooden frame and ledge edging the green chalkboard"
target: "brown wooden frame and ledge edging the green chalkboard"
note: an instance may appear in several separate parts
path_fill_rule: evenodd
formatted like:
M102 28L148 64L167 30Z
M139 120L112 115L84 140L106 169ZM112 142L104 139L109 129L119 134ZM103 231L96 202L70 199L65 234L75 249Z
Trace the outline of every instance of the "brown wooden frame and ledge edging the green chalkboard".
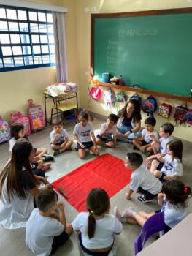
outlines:
M128 16L146 16L146 15L169 15L169 14L180 14L180 13L192 13L192 7L189 8L177 8L168 10L150 10L150 11L139 11L139 12L119 12L119 13L101 13L91 14L91 77L93 77L94 70L94 19L95 18L118 18ZM108 86L115 89L123 89L126 91L137 91L142 94L153 94L158 97L165 97L170 99L181 100L184 102L192 102L192 98L179 96L175 94L167 94L160 91L151 91L147 89L135 89L130 86L114 86L111 83L100 83L101 86Z

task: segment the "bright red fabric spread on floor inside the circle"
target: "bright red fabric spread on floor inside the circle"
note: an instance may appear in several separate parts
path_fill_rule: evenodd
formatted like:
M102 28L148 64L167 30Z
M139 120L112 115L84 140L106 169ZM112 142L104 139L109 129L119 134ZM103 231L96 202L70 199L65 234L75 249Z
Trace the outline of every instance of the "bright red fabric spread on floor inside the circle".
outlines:
M130 182L130 177L131 170L126 169L121 159L103 154L54 181L53 187L56 191L59 186L63 187L68 202L77 211L85 211L91 189L101 187L112 197Z

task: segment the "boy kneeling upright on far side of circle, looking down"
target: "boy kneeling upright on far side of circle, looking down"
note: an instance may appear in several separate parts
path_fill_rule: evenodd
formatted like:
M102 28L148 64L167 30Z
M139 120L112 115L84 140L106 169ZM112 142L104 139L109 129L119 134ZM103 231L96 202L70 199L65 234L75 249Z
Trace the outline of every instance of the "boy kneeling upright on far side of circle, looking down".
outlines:
M96 146L93 127L88 121L88 112L86 110L81 110L79 120L80 123L75 125L73 134L74 139L77 140L77 146L75 149L78 151L80 159L85 159L86 148L96 156L99 156L99 149Z

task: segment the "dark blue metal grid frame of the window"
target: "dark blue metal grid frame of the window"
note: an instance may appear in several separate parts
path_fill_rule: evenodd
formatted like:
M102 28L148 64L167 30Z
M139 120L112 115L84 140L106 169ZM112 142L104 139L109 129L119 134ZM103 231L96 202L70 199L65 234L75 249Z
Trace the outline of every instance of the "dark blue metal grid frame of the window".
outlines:
M37 9L34 9L34 8L26 8L26 7L14 7L14 6L7 6L7 5L4 5L4 4L0 4L0 8L4 8L5 9L5 12L6 12L6 18L0 18L0 21L6 21L7 22L7 31L0 31L0 34L8 34L9 35L9 43L1 43L0 42L0 59L1 59L1 62L2 62L2 65L3 67L0 67L0 72L7 72L7 71L13 71L13 70L20 70L20 69L34 69L34 68L39 68L39 67L52 67L52 66L55 66L55 62L51 62L51 56L54 56L55 55L55 52L54 53L50 53L50 46L51 45L55 45L55 43L53 42L49 42L49 35L53 35L54 37L54 34L53 33L50 33L48 31L48 25L53 25L53 22L49 22L47 21L47 13L51 13L51 11L47 11L47 10L37 10ZM12 10L16 10L16 15L17 15L17 19L9 19L7 18L7 9L12 9ZM21 20L18 18L18 10L21 10L21 11L26 11L26 20ZM42 13L45 13L45 19L46 21L39 21L39 18L38 18L38 15L37 15L37 20L29 20L29 12L42 12ZM18 31L10 31L9 30L9 22L17 22L18 23ZM28 31L20 31L20 26L19 24L20 23L27 23L27 26L28 26ZM46 24L46 29L47 29L47 32L31 32L31 24L34 23L34 24L38 24L38 30L39 30L39 24L42 24L42 25L45 25ZM11 41L11 35L12 34L18 34L19 37L20 37L20 43L12 43ZM21 36L23 34L26 34L28 35L28 38L29 38L29 42L27 43L24 43L22 42L22 38ZM39 36L39 43L32 43L32 35L38 35ZM47 43L42 43L41 42L41 39L40 39L40 36L41 35L46 35L47 36ZM9 46L11 47L11 50L12 50L12 47L14 46L20 46L21 47L21 50L22 50L22 54L19 54L19 55L15 55L13 54L13 50L12 50L12 55L6 55L6 56L3 56L3 51L2 51L2 47L6 47L6 46ZM30 47L31 49L31 54L24 54L23 53L23 46L27 46L27 47ZM33 46L40 46L40 53L34 53L34 50L33 50ZM47 46L48 48L48 52L47 53L42 53L42 48L41 46ZM41 57L41 61L42 63L41 64L34 64L34 57L35 56L40 56ZM43 59L42 59L42 56L48 56L49 58L49 63L44 63L43 64ZM15 66L15 59L14 58L17 58L17 57L20 57L21 59L23 59L23 64L21 66ZM26 64L25 63L25 58L26 57L31 57L32 61L33 61L33 64ZM12 59L12 64L14 64L14 66L12 67L4 67L4 58L10 58Z

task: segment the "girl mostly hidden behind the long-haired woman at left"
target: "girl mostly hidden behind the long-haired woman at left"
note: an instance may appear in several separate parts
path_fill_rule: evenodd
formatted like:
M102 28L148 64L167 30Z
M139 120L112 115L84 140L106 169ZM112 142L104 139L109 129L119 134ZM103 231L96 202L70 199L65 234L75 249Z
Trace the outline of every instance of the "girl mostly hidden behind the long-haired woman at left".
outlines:
M20 123L14 123L11 125L10 129L11 139L9 140L9 151L12 152L12 148L15 145L16 141L20 138L28 138L24 135L24 126ZM46 148L34 148L35 156L34 156L34 167L33 169L42 169L48 170L50 169L51 164L43 165L44 161L53 161L54 158L51 155L47 154Z

